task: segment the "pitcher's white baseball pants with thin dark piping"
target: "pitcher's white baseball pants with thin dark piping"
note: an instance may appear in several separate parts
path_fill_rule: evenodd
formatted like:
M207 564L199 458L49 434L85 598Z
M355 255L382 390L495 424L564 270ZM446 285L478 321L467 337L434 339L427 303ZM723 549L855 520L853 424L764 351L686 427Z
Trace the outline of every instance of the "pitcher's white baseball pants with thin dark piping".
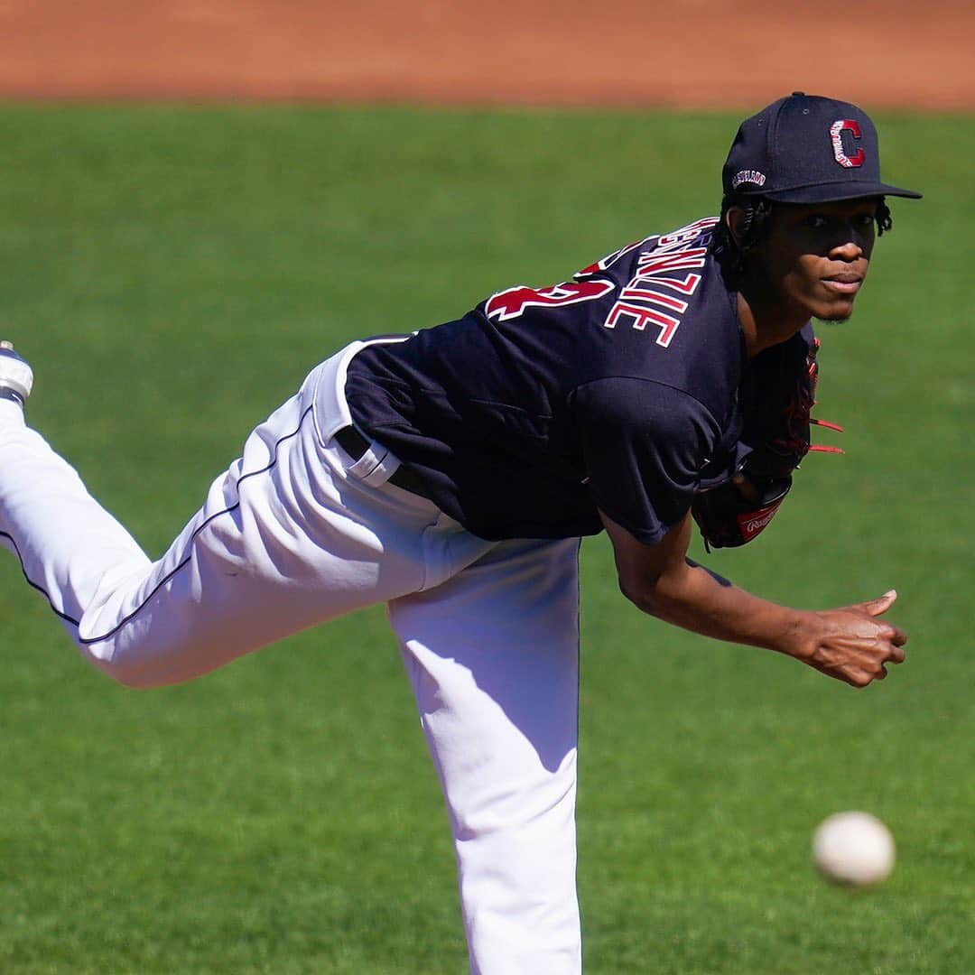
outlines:
M0 540L81 652L177 683L386 603L448 804L471 970L581 970L578 540L489 542L333 440L353 343L248 438L152 562L0 400Z

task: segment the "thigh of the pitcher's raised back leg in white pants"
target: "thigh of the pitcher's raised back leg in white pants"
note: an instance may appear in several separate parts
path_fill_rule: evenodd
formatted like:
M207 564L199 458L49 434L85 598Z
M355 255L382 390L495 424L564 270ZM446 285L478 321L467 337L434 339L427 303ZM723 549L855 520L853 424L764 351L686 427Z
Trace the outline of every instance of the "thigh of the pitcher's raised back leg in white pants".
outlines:
M353 459L315 422L319 371L254 429L159 561L88 601L78 640L116 679L196 677L422 589L451 559L465 565L489 544L431 501L349 473ZM88 574L105 576L100 564Z

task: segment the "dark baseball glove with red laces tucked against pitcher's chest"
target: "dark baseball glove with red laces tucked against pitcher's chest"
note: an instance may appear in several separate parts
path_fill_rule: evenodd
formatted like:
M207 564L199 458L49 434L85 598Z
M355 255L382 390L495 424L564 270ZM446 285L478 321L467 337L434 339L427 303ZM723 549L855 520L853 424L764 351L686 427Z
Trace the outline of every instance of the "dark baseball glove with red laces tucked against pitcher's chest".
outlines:
M842 453L810 443L811 424L841 430L810 416L816 404L819 339L806 327L766 349L752 362L740 441L748 454L734 476L696 494L691 514L704 546L735 548L750 542L775 516L792 487L792 475L809 450Z

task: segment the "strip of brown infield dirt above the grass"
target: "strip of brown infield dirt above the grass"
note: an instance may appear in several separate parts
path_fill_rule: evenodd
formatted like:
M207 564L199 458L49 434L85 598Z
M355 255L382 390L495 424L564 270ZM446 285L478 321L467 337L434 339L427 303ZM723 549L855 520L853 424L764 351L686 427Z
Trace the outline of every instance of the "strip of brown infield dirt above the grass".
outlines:
M975 109L972 0L0 0L0 98Z

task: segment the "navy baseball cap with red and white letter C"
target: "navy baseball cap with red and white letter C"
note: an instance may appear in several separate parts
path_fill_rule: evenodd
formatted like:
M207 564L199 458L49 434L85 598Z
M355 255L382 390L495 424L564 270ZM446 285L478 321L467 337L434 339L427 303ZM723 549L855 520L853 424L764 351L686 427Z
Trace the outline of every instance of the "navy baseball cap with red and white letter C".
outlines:
M826 203L920 193L880 181L877 129L847 101L793 92L742 122L722 170L725 195Z

